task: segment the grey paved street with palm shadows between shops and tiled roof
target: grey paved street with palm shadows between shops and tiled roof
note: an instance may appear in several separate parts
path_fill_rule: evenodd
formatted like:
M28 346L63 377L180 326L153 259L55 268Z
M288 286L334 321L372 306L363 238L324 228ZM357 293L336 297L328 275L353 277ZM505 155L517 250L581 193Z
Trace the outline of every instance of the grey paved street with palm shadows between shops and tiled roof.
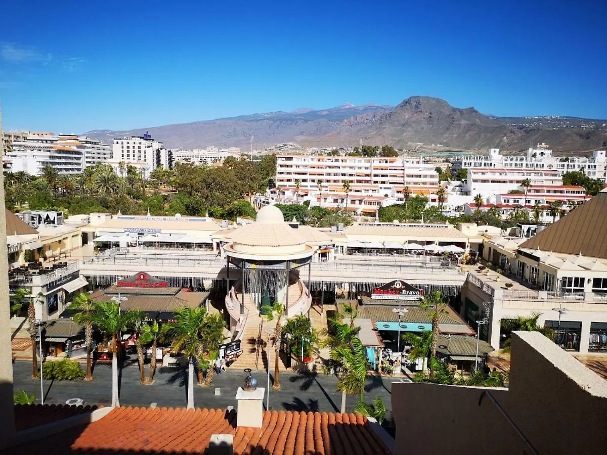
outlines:
M32 363L16 361L13 364L15 391L24 389L36 394L36 402L40 398L40 380L31 379ZM267 386L267 376L264 371L254 372L260 387ZM209 388L194 387L194 403L200 408L236 407L236 389L242 385L246 377L244 371L228 369L220 375L215 375L213 385ZM109 405L112 393L112 368L110 365L98 365L93 371L93 382L78 381L44 381L45 402L65 403L70 398L81 398L89 405ZM141 385L137 365L125 366L121 371L120 404L124 406L158 406L178 407L186 405L187 371L176 368L159 368L154 376L154 383ZM376 397L382 397L388 410L392 409L390 402L391 383L395 378L370 377L367 383L365 401L372 402ZM270 391L270 408L290 411L339 411L341 393L335 391L336 380L323 374L302 376L292 372L280 374L282 390ZM215 396L215 388L221 389L221 394ZM352 411L358 397L347 397L347 411ZM390 418L390 417L388 417Z

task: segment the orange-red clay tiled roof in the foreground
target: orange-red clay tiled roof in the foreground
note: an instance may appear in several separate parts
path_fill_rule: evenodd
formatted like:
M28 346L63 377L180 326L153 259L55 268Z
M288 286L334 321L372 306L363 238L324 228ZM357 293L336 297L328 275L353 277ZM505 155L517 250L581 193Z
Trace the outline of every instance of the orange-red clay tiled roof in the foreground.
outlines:
M212 434L234 435L237 455L390 453L359 414L265 411L262 428L237 428L235 411L124 407L7 453L203 453Z

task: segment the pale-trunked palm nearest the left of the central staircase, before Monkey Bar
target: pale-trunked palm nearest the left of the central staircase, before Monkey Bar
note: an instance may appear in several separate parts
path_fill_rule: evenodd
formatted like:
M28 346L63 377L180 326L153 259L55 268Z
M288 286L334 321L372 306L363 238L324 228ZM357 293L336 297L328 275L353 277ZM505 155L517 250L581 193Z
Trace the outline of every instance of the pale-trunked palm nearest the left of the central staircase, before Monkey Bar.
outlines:
M177 322L169 322L161 329L161 340L171 342L171 351L183 354L188 365L188 409L194 409L194 360L203 354L203 330L206 325L205 308L180 308L175 311Z

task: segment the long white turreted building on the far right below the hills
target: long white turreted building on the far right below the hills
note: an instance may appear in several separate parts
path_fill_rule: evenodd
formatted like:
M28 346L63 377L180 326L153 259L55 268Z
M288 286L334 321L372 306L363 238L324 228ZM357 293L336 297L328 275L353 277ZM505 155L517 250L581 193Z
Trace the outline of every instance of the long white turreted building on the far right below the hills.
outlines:
M606 150L595 150L592 157L553 157L546 144L529 147L526 155L504 156L500 149L489 149L487 155L467 155L453 160L453 169L461 168L501 168L501 169L557 169L560 172L581 171L590 178L607 181Z

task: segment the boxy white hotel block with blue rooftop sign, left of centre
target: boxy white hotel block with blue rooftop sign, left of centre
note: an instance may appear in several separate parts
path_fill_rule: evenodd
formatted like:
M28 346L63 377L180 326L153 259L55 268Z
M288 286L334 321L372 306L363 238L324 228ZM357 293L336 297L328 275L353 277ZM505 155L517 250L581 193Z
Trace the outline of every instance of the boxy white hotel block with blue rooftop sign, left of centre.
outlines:
M120 163L134 166L147 178L158 166L169 167L169 152L164 148L163 143L152 139L149 134L115 138L112 146L112 161L107 164L114 167L120 175Z

